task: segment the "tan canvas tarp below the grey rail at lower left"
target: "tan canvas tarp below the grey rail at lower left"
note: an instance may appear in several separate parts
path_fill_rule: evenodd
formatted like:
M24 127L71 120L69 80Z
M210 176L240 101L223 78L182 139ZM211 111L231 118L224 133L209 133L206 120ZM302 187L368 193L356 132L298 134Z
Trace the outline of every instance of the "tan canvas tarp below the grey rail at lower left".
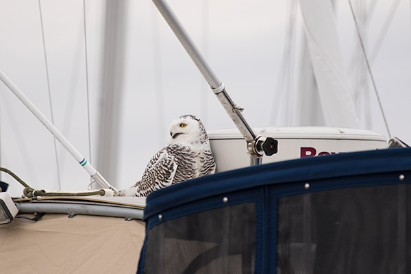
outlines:
M0 273L136 273L144 237L144 222L123 218L14 219L0 225Z

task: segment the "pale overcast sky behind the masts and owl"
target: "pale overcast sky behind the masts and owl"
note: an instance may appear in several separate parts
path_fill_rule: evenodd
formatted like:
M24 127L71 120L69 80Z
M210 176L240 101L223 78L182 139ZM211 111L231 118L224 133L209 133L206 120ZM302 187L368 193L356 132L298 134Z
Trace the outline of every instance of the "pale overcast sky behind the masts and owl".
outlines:
M411 144L411 7L409 1L352 0L369 52L379 97L393 136ZM0 71L53 120L93 165L97 162L103 1L42 0L49 87L38 1L0 0ZM252 127L297 126L303 27L298 1L169 0L180 21ZM343 60L361 127L388 138L374 91L364 73L349 2L334 2ZM388 21L393 14L392 21ZM234 124L151 1L127 1L123 97L119 116L118 175L127 188L140 179L151 156L166 144L169 123L195 114L206 129ZM291 27L291 28L290 28ZM290 32L290 29L293 32ZM284 57L286 56L286 57ZM285 73L284 63L288 64ZM359 71L360 70L360 71ZM51 98L51 104L50 100ZM88 108L90 119L88 119ZM90 122L89 122L90 121ZM90 124L90 133L88 127ZM89 146L89 134L91 147ZM91 155L90 155L91 151ZM84 190L89 176L0 83L0 166L34 188ZM103 171L101 171L103 173ZM9 192L23 190L8 175Z

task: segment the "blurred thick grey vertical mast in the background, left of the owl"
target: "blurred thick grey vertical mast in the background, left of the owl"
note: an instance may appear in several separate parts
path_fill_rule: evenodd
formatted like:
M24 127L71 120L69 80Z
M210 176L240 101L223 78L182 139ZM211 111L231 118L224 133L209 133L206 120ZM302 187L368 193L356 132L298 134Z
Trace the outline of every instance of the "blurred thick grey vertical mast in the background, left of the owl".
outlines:
M109 182L116 179L119 162L126 22L127 1L106 1L97 168Z

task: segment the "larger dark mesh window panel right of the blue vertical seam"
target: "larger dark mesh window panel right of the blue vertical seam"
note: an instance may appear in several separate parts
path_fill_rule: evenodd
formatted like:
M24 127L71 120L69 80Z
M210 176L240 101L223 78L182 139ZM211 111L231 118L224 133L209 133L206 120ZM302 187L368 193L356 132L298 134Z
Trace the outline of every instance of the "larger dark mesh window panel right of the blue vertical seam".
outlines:
M277 273L411 273L411 188L279 199Z

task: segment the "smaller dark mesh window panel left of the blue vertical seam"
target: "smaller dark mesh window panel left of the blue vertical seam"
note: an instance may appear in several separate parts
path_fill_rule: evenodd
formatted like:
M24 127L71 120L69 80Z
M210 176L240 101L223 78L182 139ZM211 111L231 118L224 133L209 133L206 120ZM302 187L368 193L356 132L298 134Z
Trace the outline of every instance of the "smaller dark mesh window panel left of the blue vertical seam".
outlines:
M256 205L165 221L147 232L145 273L253 273Z

